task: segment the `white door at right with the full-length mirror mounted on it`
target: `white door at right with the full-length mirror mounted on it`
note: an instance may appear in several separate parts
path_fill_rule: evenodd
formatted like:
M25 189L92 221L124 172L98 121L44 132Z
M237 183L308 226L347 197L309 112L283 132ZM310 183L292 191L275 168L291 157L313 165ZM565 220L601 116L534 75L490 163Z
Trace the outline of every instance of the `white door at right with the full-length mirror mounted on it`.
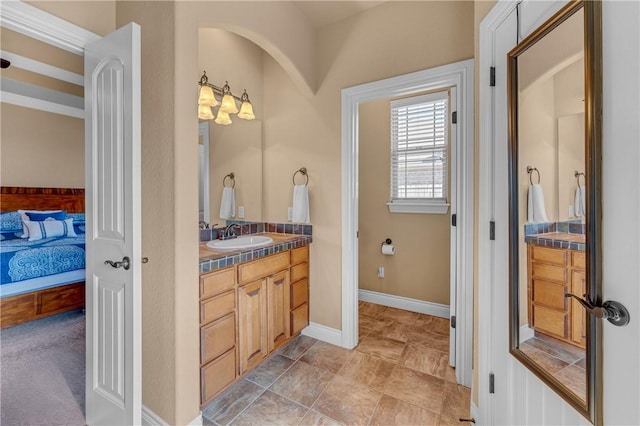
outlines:
M502 79L506 79L506 53L515 45L516 18L510 10L514 7L515 3L499 2L481 25L480 81L486 83L483 73L487 76L493 65L496 87L480 88L479 424L587 424L508 352L507 104ZM631 314L626 327L602 324L604 424L638 424L640 3L603 2L602 28L603 292L604 300L623 302ZM490 220L496 223L491 242L486 226ZM495 375L493 394L490 373Z

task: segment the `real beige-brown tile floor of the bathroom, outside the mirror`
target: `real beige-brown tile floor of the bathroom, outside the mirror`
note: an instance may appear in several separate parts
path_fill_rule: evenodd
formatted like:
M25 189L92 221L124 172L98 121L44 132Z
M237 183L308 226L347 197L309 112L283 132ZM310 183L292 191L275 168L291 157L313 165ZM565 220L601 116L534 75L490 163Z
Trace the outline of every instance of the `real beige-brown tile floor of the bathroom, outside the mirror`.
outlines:
M461 425L449 322L360 302L354 350L298 336L203 410L205 425Z

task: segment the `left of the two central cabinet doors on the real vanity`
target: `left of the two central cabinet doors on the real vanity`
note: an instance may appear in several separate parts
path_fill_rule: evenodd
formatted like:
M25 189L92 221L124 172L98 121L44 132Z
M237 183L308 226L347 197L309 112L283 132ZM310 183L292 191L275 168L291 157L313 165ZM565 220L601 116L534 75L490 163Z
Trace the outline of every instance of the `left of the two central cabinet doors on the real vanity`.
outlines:
M266 279L238 288L238 323L240 373L242 374L269 353Z

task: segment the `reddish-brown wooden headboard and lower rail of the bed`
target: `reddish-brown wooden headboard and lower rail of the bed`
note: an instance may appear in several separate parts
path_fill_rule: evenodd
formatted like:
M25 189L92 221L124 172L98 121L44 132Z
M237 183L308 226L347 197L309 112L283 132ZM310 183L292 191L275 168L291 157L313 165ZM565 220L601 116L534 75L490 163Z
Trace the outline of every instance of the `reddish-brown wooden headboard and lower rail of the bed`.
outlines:
M84 189L0 187L0 211L18 209L84 213ZM79 281L0 299L0 328L83 308L84 285Z

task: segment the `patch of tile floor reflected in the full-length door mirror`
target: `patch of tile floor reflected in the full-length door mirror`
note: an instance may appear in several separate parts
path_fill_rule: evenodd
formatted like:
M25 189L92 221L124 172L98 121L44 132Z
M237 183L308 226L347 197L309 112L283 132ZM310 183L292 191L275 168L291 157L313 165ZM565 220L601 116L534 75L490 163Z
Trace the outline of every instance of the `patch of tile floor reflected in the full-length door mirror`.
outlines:
M586 352L542 333L523 342L520 349L533 361L567 385L583 401L587 400Z

